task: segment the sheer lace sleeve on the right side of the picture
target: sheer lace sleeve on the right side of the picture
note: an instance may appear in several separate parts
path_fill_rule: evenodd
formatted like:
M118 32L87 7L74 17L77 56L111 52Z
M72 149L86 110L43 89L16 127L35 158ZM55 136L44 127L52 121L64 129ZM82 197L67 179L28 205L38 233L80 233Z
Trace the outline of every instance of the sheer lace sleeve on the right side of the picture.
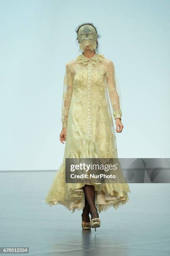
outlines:
M111 60L107 64L107 88L112 105L114 118L122 117L120 86L116 77L115 67Z

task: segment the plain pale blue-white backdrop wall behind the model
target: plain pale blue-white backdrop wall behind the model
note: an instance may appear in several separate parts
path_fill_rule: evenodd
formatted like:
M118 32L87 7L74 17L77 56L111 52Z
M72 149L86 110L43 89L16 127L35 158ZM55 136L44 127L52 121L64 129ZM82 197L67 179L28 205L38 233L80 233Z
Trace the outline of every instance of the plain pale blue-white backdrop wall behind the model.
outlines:
M0 170L57 169L65 63L91 22L122 94L118 157L170 157L170 1L0 0Z

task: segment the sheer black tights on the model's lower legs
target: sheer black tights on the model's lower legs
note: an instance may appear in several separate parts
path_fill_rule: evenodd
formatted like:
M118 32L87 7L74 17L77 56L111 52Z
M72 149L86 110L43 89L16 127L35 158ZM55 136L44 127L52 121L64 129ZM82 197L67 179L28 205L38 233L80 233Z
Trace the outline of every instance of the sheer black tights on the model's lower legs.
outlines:
M85 193L85 207L82 212L82 218L84 221L89 222L89 213L92 219L99 217L95 207L95 188L92 185L85 185L82 189Z

